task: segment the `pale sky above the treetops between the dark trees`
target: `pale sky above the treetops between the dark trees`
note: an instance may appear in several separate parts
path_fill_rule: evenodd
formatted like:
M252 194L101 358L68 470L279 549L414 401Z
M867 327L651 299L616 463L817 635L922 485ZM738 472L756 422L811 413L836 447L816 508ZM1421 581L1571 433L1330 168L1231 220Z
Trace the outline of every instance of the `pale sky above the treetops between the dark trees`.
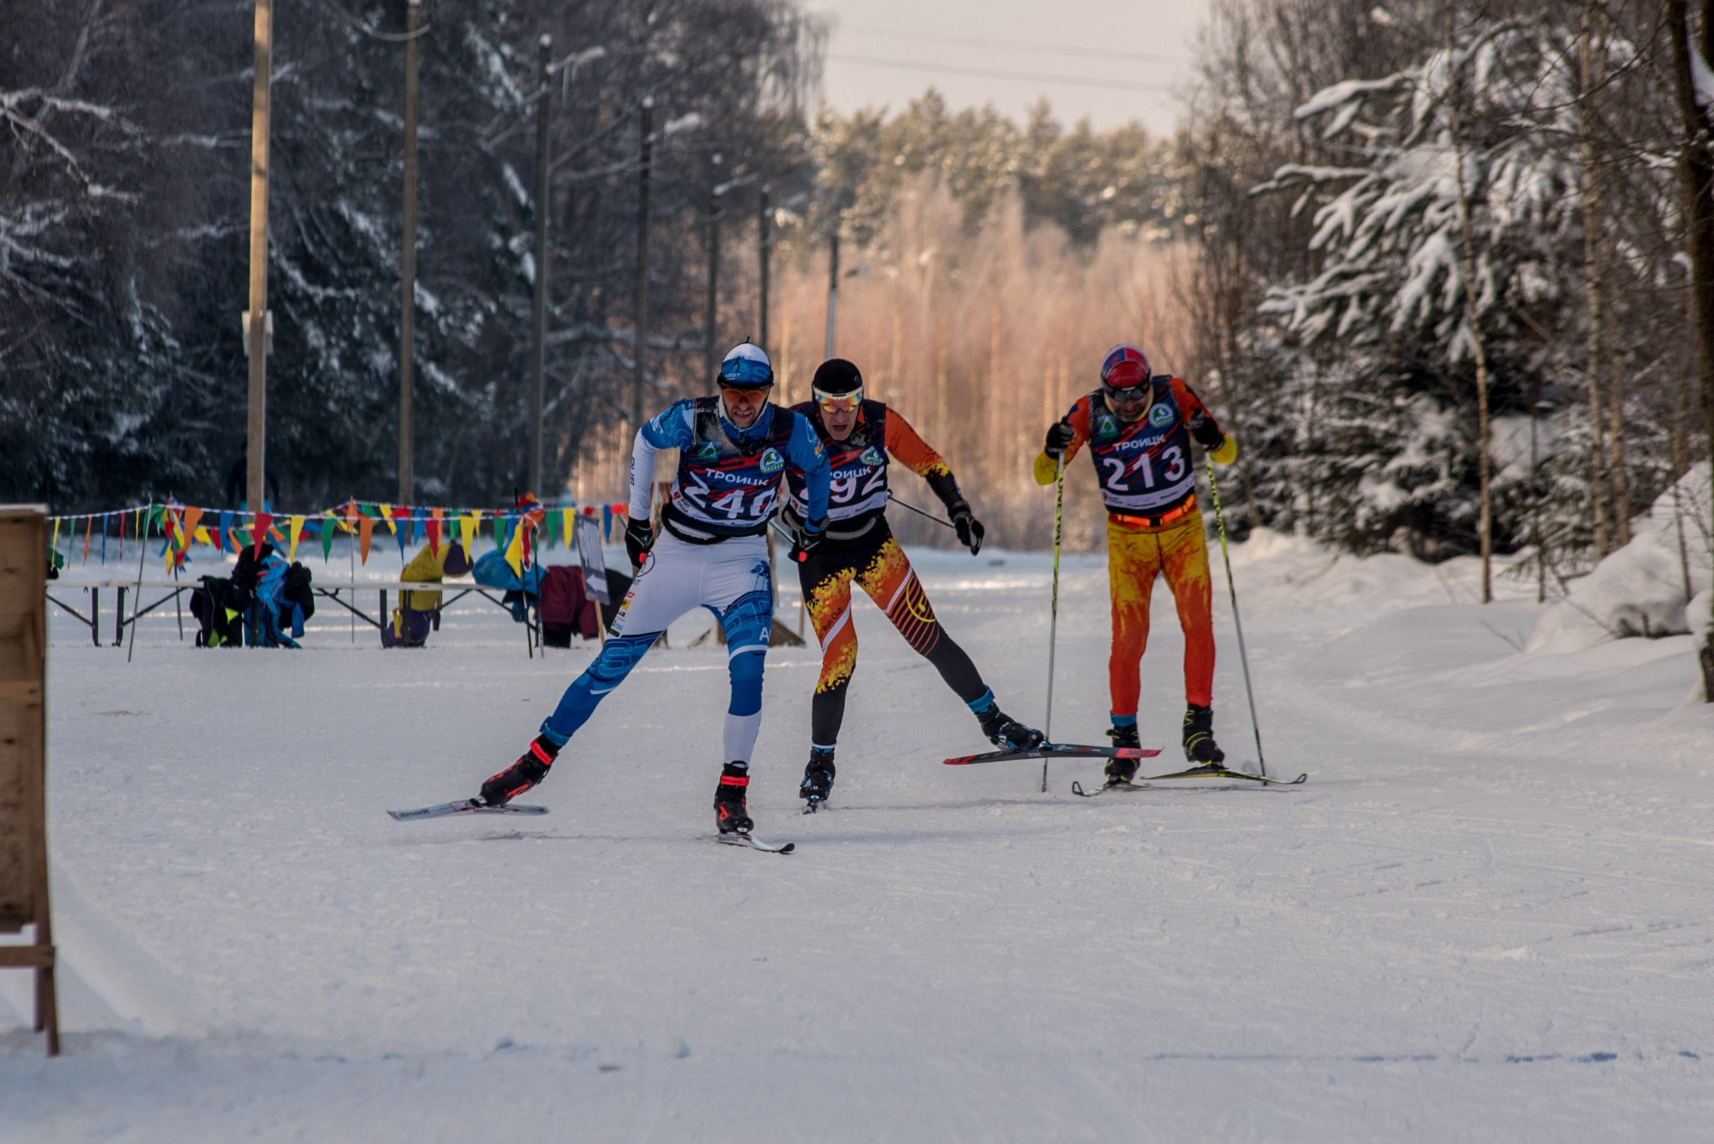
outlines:
M931 84L953 108L1022 116L1047 96L1066 125L1167 132L1207 0L809 0L835 17L824 98L903 106ZM912 67L917 65L917 67ZM1071 80L1071 82L1068 82Z

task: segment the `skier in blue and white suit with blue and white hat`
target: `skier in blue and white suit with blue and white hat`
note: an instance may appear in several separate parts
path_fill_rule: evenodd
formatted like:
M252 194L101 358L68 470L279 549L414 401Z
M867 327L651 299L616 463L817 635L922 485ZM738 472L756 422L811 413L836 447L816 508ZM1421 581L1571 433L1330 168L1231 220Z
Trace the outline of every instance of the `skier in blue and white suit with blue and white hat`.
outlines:
M715 789L722 834L747 834L744 808L749 757L761 728L761 673L773 629L768 521L780 505L780 481L800 473L807 488L806 534L792 558L819 545L828 515L828 459L809 421L768 401L773 366L758 346L735 346L720 363L720 394L667 406L638 430L631 452L631 524L626 550L639 565L619 606L612 639L566 688L559 709L523 757L482 784L478 801L500 807L540 783L566 742L596 704L624 682L667 625L708 608L727 635L732 702L727 707L725 767ZM679 450L679 471L662 510L662 534L650 526L655 457Z

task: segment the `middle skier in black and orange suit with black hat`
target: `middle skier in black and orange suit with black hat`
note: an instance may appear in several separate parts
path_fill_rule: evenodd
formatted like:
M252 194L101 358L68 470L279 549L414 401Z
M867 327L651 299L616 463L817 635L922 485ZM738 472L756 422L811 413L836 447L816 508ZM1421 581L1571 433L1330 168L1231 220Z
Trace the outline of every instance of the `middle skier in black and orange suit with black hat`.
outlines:
M852 581L893 622L968 704L982 733L1001 750L1034 750L1042 733L1011 719L994 702L970 656L934 618L934 608L886 524L888 456L922 476L946 505L958 539L975 555L982 524L958 492L958 481L941 456L929 449L905 418L879 401L864 401L862 373L843 358L823 361L812 382L814 401L794 406L809 418L828 452L833 478L828 488L828 529L819 550L797 565L809 618L821 641L821 678L811 702L809 766L799 795L814 812L833 789L833 747L845 719L845 688L857 670L857 629L852 627ZM804 519L802 478L787 474L792 502L782 514L788 529Z

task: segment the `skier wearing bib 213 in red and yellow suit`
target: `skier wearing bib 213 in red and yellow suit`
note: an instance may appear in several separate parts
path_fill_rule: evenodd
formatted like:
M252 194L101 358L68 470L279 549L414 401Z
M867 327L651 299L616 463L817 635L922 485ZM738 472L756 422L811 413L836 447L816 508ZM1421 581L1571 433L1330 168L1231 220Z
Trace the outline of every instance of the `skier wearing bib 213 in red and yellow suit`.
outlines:
M1112 692L1116 747L1136 747L1138 670L1148 644L1148 598L1164 575L1184 629L1184 759L1224 762L1214 742L1214 617L1208 545L1196 510L1196 476L1190 440L1220 464L1238 459L1238 440L1224 433L1202 399L1181 378L1150 373L1148 358L1131 344L1107 351L1100 389L1078 397L1047 428L1035 457L1035 481L1052 485L1059 457L1066 464L1087 442L1107 505L1107 587L1112 596ZM1135 759L1107 764L1107 779L1128 783Z

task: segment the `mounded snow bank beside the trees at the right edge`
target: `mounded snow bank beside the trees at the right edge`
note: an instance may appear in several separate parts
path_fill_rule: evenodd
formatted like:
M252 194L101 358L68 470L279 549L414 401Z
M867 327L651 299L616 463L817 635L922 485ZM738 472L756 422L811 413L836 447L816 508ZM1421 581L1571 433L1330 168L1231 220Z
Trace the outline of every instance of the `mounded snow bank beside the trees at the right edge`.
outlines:
M1597 563L1563 603L1541 617L1527 651L1579 651L1604 639L1707 630L1709 519L1709 466L1702 462L1632 521L1628 545ZM1697 620L1687 615L1692 598L1700 601Z

